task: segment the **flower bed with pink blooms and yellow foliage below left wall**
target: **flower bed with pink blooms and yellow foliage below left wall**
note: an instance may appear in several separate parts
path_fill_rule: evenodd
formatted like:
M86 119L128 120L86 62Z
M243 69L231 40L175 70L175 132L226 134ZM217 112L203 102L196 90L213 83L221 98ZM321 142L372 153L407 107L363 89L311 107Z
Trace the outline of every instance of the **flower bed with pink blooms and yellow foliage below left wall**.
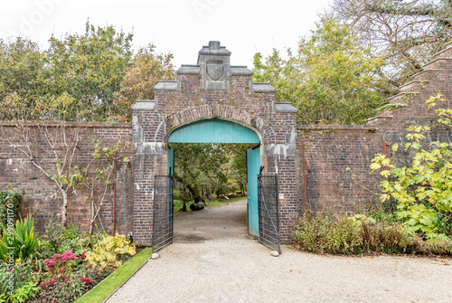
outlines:
M38 238L33 218L10 225L0 241L0 303L73 302L117 270L125 255L136 254L123 235L80 233L73 224L51 222Z

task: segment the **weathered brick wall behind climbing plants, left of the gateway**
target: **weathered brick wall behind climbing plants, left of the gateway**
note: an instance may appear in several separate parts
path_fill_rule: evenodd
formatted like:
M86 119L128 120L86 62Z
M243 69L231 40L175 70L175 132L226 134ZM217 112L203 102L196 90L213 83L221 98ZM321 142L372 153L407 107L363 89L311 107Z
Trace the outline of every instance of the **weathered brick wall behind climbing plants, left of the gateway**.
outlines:
M70 125L68 134L74 134L74 125ZM55 189L55 185L47 176L33 166L30 159L23 153L11 147L5 137L12 138L14 144L22 145L21 136L14 128L14 124L3 122L2 136L0 137L0 189L14 189L15 191L26 193L21 205L21 215L26 216L32 213L34 223L38 232L43 232L44 224L51 218L60 220L62 199L61 193ZM40 136L37 127L32 128L31 135L34 155L46 169L55 167L55 158L50 148ZM72 138L72 137L71 137ZM93 148L91 139L99 139L103 147L113 147L118 140L132 144L132 127L130 124L86 124L80 128L80 141L75 155L75 162L80 167L86 165L92 158ZM123 156L127 156L129 162L118 161L117 175L117 232L126 233L133 229L133 160L134 155L129 147ZM99 193L97 193L99 194ZM90 204L80 199L75 194L69 194L68 221L80 225L81 230L88 230L90 218ZM111 232L113 223L113 185L108 186L107 201L101 213L101 220L98 221L99 228L102 226L106 231Z

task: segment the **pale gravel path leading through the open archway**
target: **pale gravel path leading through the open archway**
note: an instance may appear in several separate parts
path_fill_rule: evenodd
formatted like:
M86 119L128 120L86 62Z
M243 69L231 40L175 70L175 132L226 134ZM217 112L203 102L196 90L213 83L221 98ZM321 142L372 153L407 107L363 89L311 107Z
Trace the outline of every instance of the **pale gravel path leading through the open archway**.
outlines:
M269 250L247 233L246 201L175 218L174 244L114 302L452 302L452 260Z

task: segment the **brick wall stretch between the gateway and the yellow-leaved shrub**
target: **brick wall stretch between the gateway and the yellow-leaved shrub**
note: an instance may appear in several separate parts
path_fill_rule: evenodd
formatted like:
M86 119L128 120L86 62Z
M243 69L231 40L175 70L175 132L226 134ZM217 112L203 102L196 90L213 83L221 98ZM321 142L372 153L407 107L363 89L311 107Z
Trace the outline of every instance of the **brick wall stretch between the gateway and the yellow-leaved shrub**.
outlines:
M305 145L305 166L302 145ZM334 209L336 213L353 213L358 207L365 208L374 202L372 192L378 192L380 177L369 175L369 166L376 153L383 153L382 136L376 128L298 126L296 155L300 210L305 209L304 172L306 205L311 212Z

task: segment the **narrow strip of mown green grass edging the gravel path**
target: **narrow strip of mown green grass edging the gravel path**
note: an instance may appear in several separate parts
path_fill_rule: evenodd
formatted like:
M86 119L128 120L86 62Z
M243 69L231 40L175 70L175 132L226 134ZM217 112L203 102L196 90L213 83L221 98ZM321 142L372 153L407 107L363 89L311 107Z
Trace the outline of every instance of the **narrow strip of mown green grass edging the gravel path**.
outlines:
M118 270L112 272L106 279L101 281L89 292L81 296L75 301L76 303L92 303L92 302L103 302L105 299L109 298L119 289L124 283L130 279L137 270L141 269L146 261L152 255L152 249L146 248L140 251L132 259L127 260Z

